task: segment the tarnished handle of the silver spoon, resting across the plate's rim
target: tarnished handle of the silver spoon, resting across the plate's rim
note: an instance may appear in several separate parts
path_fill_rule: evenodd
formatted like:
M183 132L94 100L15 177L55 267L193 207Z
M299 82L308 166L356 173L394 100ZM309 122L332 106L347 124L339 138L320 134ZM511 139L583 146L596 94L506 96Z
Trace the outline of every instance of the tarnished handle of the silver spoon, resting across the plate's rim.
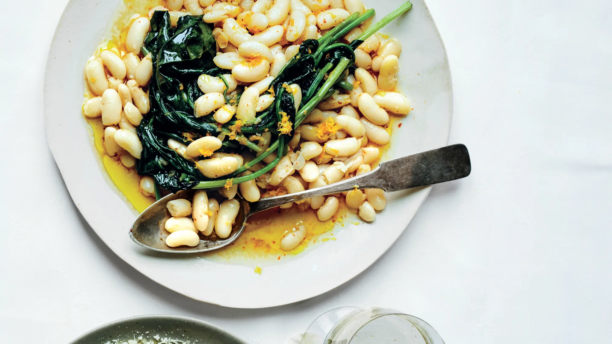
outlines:
M335 184L289 195L263 198L250 204L250 214L308 198L357 189L387 192L414 189L469 176L472 166L468 148L454 144L381 163L375 170Z

